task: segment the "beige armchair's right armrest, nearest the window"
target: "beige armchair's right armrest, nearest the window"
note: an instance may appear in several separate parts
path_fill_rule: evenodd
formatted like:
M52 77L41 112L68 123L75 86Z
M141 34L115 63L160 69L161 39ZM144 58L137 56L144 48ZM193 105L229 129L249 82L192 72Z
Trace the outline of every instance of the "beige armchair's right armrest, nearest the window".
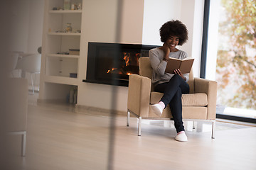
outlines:
M195 78L195 93L205 93L208 98L207 119L216 118L217 82L207 79Z

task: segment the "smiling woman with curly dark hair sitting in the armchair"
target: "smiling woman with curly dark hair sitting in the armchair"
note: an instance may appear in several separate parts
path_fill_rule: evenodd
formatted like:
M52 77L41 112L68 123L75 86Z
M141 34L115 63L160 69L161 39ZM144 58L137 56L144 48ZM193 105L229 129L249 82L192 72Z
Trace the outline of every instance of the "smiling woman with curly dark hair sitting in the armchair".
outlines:
M154 91L164 93L164 96L159 103L152 106L152 109L156 115L161 116L164 108L169 104L177 132L175 140L187 141L182 121L181 95L189 93L188 74L183 74L179 69L174 71L175 74L164 71L169 57L178 59L188 57L186 52L176 48L177 45L183 45L188 40L188 30L181 21L168 21L161 26L160 36L164 44L150 50L149 59L153 68Z

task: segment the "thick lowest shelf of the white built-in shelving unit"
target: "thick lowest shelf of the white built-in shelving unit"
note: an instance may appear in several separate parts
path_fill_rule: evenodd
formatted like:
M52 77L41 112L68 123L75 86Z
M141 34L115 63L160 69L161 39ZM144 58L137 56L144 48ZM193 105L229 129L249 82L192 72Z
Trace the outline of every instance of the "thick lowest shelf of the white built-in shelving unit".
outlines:
M46 76L45 81L55 84L68 84L78 86L78 78L72 77L58 77L58 76Z

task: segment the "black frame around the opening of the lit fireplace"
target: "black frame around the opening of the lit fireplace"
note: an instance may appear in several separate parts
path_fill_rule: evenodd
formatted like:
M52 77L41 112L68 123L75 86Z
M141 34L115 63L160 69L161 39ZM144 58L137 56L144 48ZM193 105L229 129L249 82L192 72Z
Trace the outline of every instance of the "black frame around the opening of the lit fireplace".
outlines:
M122 44L122 43L109 43L109 42L88 42L87 52L87 73L86 79L83 82L93 84L108 84L115 86L128 86L129 77L127 79L117 79L112 76L111 78L100 79L97 77L95 69L97 69L97 60L100 56L97 55L100 48L108 48L114 52L122 52L126 50L134 50L142 54L142 57L149 56L149 50L159 47L158 45L142 45L142 44ZM118 57L118 56L117 56ZM117 64L119 58L114 57L114 63ZM139 67L138 67L139 70Z

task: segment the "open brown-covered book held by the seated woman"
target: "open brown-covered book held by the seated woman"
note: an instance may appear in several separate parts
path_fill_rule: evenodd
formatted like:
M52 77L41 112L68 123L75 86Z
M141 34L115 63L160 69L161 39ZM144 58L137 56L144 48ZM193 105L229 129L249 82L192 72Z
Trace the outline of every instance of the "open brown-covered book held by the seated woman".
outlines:
M189 73L191 72L193 61L194 59L190 57L183 60L170 57L166 65L165 72L174 74L175 69L180 69L182 74Z

